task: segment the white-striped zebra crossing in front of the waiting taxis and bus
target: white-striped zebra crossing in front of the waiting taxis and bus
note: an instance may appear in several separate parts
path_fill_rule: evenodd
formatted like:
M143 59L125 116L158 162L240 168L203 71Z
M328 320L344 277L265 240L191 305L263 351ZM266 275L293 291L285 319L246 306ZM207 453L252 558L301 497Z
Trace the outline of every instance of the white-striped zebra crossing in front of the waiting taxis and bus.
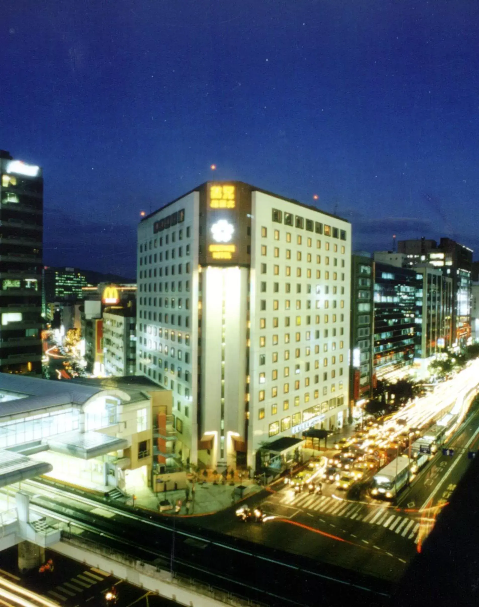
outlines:
M281 495L281 493L278 495L281 495L279 503L284 506L305 508L318 512L318 514L328 514L379 525L408 540L412 540L417 535L420 527L420 524L412 518L405 517L396 511L393 512L386 505L369 506L355 501L338 500L329 495L298 494L290 491L283 493L284 495ZM277 503L276 499L274 501Z

